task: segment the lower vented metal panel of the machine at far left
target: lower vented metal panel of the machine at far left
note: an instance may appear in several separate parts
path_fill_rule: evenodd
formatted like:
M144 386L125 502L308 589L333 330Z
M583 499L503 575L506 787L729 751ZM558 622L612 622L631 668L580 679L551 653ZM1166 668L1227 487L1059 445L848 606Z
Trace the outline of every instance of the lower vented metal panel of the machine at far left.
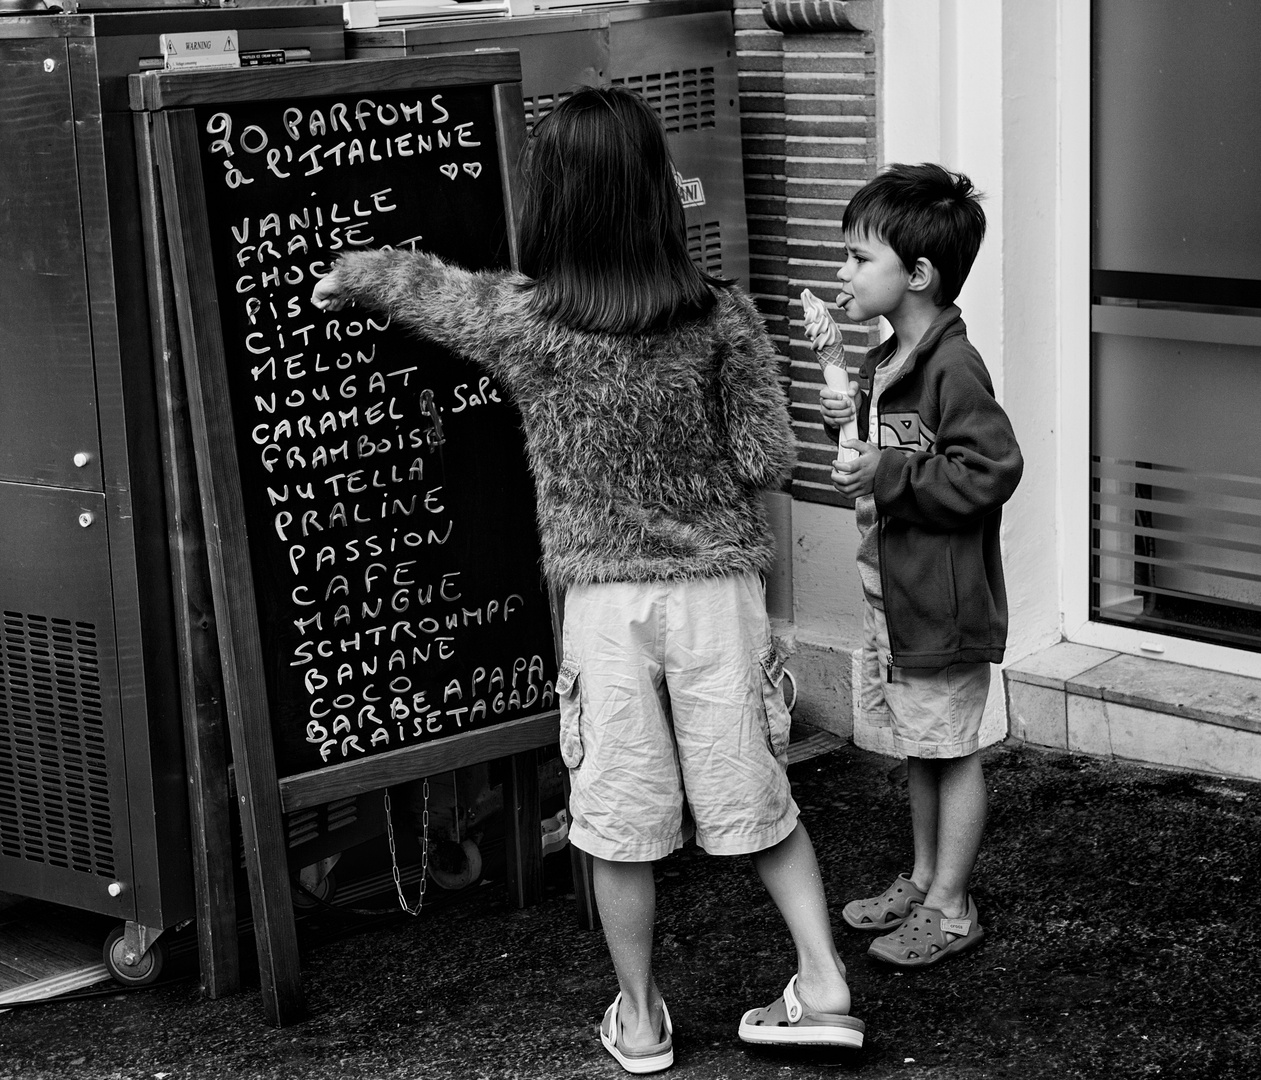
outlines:
M0 482L0 886L131 919L116 652L105 496Z

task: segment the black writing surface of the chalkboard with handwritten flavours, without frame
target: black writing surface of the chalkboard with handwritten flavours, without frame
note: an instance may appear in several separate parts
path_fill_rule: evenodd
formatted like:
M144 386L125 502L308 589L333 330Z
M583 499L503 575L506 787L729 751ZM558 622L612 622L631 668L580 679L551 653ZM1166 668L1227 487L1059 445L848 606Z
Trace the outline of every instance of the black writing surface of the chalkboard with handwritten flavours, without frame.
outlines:
M344 251L508 265L487 88L195 116L277 768L551 708L504 390L385 315L308 300Z

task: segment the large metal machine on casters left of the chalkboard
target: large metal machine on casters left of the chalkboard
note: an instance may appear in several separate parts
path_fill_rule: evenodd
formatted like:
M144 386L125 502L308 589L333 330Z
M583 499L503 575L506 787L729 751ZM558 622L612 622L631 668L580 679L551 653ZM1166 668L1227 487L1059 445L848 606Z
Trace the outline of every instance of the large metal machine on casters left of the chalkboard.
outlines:
M0 15L0 892L193 916L154 355L126 78L159 35L342 59L339 8Z

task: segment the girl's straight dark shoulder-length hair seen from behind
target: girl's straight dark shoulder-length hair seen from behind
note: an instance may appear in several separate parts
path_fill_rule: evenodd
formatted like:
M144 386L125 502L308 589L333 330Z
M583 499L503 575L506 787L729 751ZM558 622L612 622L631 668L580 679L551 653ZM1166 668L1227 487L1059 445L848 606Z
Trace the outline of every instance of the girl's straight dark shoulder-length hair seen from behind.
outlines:
M639 95L583 87L545 116L522 160L521 273L536 310L637 333L699 318L712 286L687 255L666 132Z

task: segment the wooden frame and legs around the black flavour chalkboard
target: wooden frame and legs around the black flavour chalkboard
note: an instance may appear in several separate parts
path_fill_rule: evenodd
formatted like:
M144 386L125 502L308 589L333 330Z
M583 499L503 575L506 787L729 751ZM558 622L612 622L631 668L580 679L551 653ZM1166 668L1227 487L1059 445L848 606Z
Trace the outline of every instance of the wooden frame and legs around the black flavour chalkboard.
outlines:
M259 973L264 1009L276 1026L306 1013L284 813L464 765L508 758L504 804L509 889L517 905L525 906L542 892L536 752L557 741L559 714L550 710L325 770L277 777L193 107L477 85L491 87L511 259L516 265L514 178L526 129L521 63L514 50L130 77L132 110L146 114L137 119L137 132L151 140L141 148L141 158L148 158L150 168L156 164L160 178L160 217L174 285ZM180 599L187 602L188 597ZM231 859L231 852L219 855L223 863Z

